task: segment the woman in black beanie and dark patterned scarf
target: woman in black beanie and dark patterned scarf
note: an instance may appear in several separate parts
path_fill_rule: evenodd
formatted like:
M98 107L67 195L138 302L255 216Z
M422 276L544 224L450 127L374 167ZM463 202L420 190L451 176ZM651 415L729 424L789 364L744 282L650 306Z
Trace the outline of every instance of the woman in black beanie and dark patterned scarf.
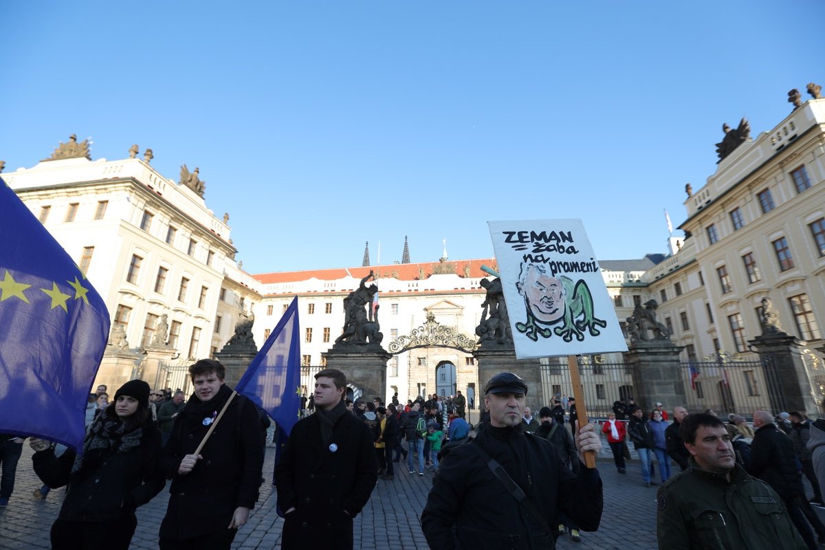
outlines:
M54 550L128 550L138 520L134 510L163 489L155 463L161 452L158 425L148 410L149 386L130 380L92 421L79 454L60 457L45 440L32 439L35 473L51 488L68 485L51 529Z

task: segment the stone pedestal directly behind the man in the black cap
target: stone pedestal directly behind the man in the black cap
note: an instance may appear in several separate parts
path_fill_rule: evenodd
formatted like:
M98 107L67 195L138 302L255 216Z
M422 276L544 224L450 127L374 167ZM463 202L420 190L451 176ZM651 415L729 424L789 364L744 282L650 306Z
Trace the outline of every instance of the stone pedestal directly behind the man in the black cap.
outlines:
M527 383L527 406L538 414L540 407L547 405L544 387L541 383L541 362L537 359L516 360L516 350L512 344L498 344L495 341L483 341L473 352L479 365L479 386L476 388L476 407L481 407L484 400L484 385L498 373L511 372L524 378Z

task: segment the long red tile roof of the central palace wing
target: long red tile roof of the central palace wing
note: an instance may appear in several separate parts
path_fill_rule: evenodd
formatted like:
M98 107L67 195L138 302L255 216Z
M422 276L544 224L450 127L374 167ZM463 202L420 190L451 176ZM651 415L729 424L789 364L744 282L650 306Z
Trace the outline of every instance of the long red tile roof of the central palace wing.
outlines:
M488 266L493 270L497 269L495 258L482 258L480 260L456 260L447 261L447 263L455 266L455 274L461 277L464 276L464 267L466 266L469 266L469 276L471 278L490 276L488 273L481 270L481 266ZM396 276L398 280L418 280L419 267L424 270L424 279L427 279L427 277L432 274L433 269L438 265L439 262L437 261L425 261L415 264L389 264L388 266L359 266L329 270L281 271L280 273L261 273L258 275L252 275L252 277L261 281L263 284L294 283L312 278L318 280L343 279L347 276L347 271L349 271L349 275L352 275L356 279L362 279L366 275L369 275L370 270L374 270L375 276L378 279Z

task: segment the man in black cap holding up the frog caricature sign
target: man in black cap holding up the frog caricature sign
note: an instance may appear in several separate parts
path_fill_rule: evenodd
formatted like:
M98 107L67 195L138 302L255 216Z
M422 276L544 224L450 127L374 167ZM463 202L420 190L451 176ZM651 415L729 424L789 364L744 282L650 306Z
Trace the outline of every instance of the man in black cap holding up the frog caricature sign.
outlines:
M525 381L497 374L484 393L490 424L444 457L427 497L421 523L430 548L554 548L555 530L549 524L559 511L582 529L596 530L602 507L599 472L580 464L574 475L552 444L521 431ZM585 451L601 449L592 425L579 430L577 447L582 461ZM529 505L516 501L506 481L488 466L490 458L497 461L497 472L506 472L521 487Z

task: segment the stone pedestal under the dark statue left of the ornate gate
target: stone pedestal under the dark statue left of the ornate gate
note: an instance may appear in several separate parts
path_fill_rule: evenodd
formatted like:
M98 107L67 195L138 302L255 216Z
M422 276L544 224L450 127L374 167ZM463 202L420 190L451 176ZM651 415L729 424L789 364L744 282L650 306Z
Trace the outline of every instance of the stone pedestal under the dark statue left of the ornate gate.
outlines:
M376 396L382 402L392 399L392 393L387 395L387 362L393 355L379 344L336 344L321 355L328 368L342 371L348 383L361 388L365 400Z

